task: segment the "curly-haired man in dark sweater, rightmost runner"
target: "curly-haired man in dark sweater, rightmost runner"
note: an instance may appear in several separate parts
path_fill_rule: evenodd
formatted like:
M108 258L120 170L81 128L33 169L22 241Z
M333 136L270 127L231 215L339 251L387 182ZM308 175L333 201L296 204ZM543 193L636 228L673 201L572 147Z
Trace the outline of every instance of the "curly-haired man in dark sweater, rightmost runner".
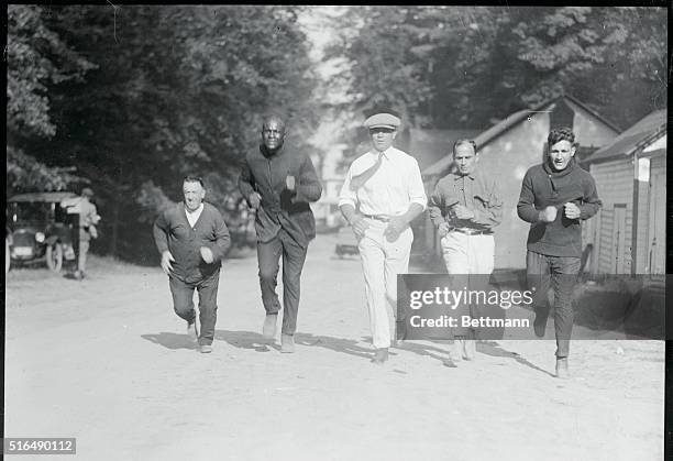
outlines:
M575 134L553 129L548 136L549 155L523 177L517 205L519 218L530 222L526 267L531 289L536 334L544 337L549 316L547 293L554 292L556 376L567 377L567 355L573 329L573 287L582 256L581 221L602 206L592 175L575 162Z

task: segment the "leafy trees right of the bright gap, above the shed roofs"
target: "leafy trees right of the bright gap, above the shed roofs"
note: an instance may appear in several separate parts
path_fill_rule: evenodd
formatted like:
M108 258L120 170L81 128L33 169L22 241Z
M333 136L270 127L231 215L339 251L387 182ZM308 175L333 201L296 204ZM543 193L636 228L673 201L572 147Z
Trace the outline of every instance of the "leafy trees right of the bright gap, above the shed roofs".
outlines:
M628 127L666 103L666 11L599 7L367 7L328 58L350 63L351 108L416 127L486 128L565 91Z

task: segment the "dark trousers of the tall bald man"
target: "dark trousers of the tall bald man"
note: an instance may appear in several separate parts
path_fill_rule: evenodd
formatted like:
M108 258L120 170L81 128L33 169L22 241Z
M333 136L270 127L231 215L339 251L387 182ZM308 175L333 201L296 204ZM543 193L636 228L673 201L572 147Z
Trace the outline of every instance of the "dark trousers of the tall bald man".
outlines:
M295 334L297 330L297 311L299 310L299 292L301 270L306 261L307 248L295 242L285 230L269 242L257 242L257 262L260 264L260 286L262 303L266 314L280 310L276 294L280 255L283 254L283 328L284 334Z

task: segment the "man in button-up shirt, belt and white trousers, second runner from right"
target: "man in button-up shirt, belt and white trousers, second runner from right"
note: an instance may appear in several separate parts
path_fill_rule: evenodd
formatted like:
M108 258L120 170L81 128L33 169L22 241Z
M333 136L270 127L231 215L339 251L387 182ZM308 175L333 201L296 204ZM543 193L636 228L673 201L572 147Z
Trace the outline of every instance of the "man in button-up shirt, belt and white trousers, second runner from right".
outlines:
M457 140L453 144L455 173L440 179L430 196L428 212L441 238L449 274L493 273L493 228L503 221L503 200L495 178L477 168L478 158L474 141ZM475 331L456 332L456 359L473 360Z

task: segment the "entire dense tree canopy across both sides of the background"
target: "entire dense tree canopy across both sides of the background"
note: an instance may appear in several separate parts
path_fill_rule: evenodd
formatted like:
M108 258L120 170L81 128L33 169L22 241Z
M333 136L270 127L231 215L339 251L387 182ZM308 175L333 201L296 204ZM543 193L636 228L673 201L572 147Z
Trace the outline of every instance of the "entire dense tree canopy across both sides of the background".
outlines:
M216 205L236 198L268 110L308 151L328 111L388 105L413 127L483 129L566 91L627 128L666 105L661 8L343 8L326 59L345 65L320 86L311 11L9 6L7 194L90 184L103 250L155 257L148 223L185 174Z

